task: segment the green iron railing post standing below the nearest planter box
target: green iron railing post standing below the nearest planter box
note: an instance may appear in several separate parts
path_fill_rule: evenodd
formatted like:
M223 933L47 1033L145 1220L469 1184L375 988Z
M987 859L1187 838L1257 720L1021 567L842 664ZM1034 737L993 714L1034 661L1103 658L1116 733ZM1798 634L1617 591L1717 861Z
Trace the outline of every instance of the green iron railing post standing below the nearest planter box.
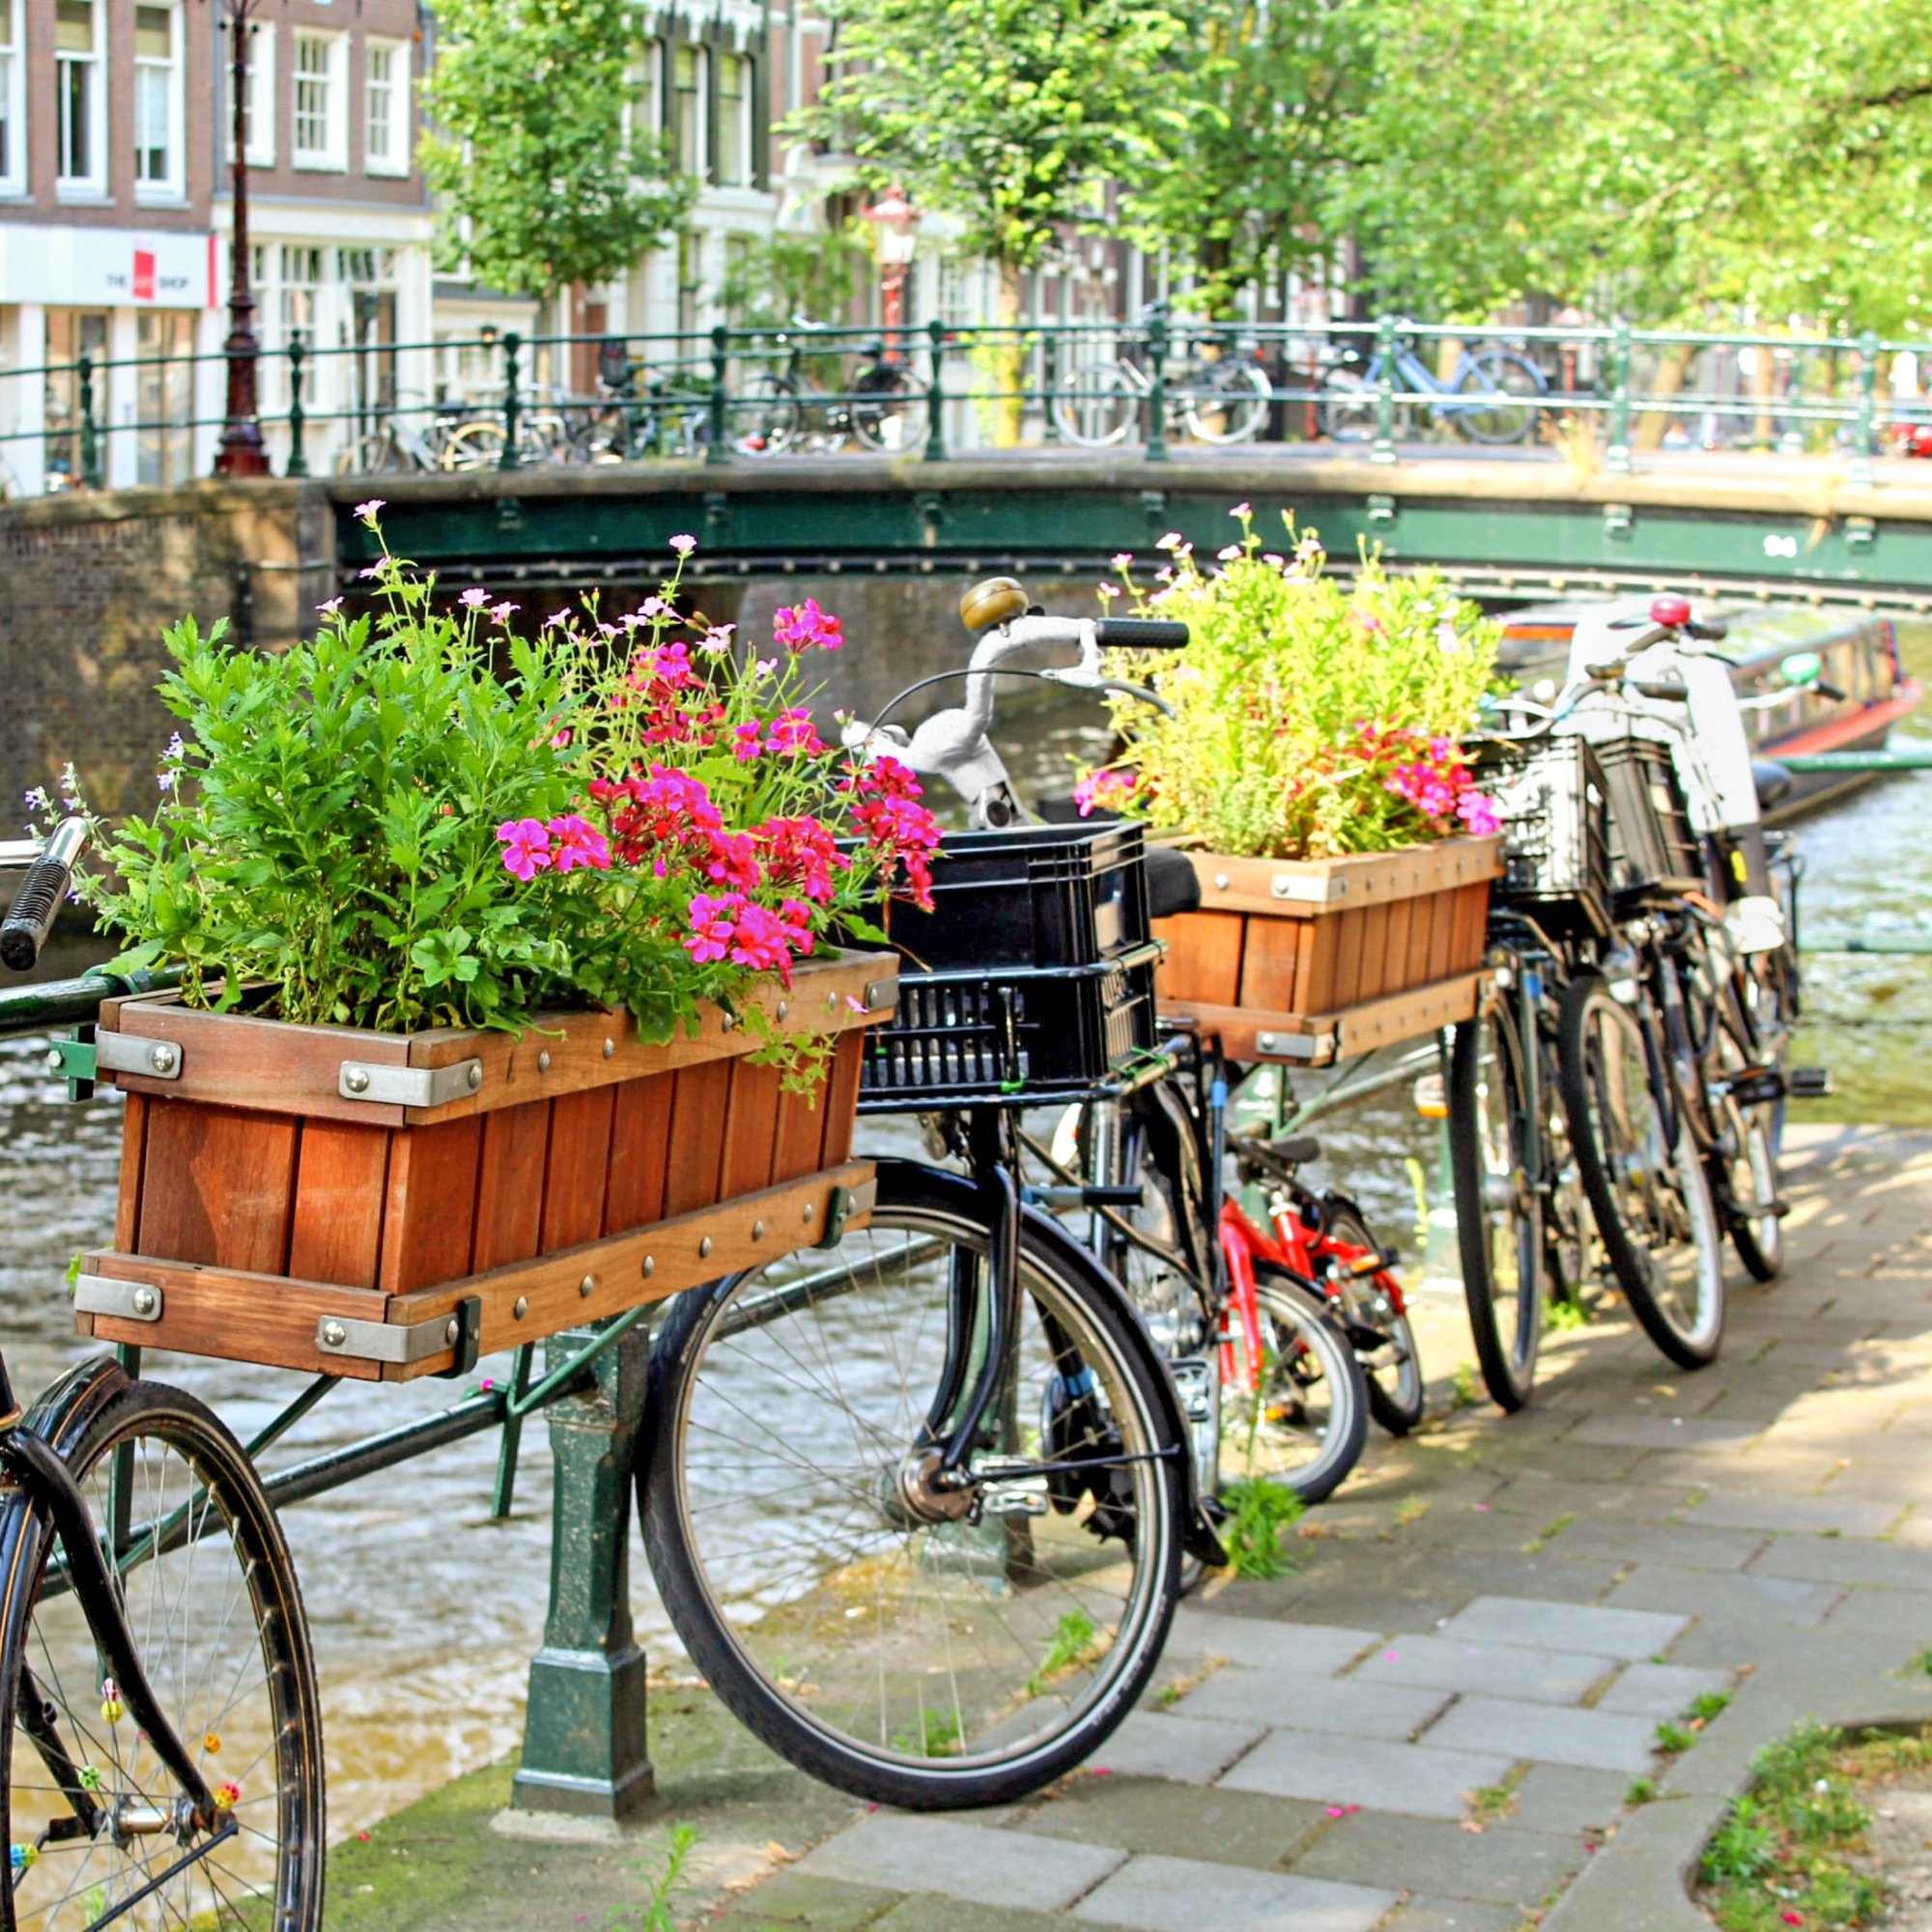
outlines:
M553 1335L554 1368L595 1339ZM518 1810L630 1818L655 1793L645 1739L645 1660L630 1621L630 1513L651 1337L639 1321L595 1364L597 1387L547 1410L551 1609L529 1665Z

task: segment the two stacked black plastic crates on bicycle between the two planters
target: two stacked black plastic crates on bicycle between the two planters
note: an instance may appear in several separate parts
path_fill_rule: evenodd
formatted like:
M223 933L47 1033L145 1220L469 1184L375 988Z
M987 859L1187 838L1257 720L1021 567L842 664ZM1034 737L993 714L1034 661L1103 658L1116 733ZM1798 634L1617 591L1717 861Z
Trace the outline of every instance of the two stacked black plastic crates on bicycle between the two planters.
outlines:
M1032 1105L1121 1080L1155 1041L1140 825L951 833L933 910L889 931L898 1010L869 1032L860 1103Z

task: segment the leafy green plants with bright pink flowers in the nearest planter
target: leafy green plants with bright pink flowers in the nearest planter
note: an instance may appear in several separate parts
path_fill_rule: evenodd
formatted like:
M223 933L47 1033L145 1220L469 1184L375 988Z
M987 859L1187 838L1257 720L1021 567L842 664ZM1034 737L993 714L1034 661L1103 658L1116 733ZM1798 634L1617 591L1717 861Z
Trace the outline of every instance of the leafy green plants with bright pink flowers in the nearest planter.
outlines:
M672 539L668 582L618 622L560 609L524 634L514 603L450 607L386 549L377 609L330 599L284 653L184 620L160 802L81 887L120 968L299 1024L597 1005L667 1039L701 1001L790 983L835 927L873 937L881 891L923 900L920 786L823 744L808 709L806 655L838 647L838 620L806 601L769 655L740 649L678 611L694 547Z

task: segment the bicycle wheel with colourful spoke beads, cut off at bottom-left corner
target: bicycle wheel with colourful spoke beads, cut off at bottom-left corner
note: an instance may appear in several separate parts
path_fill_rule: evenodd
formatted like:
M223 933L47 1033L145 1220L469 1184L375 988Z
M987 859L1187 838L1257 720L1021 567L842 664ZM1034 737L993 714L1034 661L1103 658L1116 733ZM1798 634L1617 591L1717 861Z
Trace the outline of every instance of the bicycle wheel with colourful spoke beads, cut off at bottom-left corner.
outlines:
M0 1519L0 1822L14 1853L0 1928L313 1932L321 1718L301 1594L261 1480L193 1397L100 1364L68 1376L39 1416L95 1524L122 1524L128 1627L224 1814L213 1835L178 1824L180 1787L102 1679L64 1551L19 1495Z

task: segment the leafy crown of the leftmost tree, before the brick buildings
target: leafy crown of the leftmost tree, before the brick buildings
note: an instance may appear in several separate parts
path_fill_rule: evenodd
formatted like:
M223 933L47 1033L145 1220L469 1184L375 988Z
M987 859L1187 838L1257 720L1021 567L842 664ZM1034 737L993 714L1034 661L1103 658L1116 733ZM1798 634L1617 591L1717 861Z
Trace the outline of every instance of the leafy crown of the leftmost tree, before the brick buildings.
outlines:
M439 0L423 170L446 261L553 299L684 220L694 184L626 126L636 33L632 0Z

